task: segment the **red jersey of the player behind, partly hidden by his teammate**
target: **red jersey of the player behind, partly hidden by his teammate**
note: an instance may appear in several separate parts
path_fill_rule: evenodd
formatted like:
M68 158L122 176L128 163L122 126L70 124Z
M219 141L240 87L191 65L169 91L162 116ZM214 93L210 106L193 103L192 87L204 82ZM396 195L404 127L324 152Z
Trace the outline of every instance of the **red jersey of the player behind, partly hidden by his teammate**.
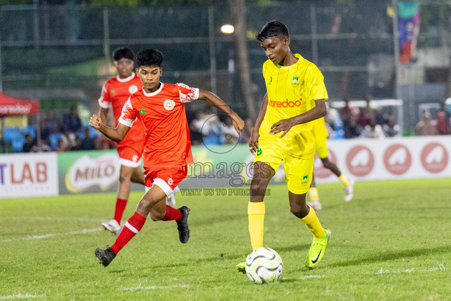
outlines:
M119 117L122 113L122 108L129 96L143 88L143 83L139 77L132 73L126 79L120 79L119 75L108 79L102 87L101 96L99 98L99 105L104 109L112 107L115 126L118 125ZM105 122L105 120L103 120ZM117 144L118 148L134 147L142 149L144 144L144 129L139 122L134 125L124 140Z

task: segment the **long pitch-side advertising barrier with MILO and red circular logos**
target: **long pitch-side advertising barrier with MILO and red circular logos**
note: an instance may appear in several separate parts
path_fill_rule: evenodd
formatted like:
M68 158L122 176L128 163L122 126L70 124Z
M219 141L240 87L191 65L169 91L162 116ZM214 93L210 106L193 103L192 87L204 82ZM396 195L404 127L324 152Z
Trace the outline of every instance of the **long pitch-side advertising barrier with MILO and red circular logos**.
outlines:
M328 148L331 161L357 181L451 177L451 136L328 140ZM180 193L249 195L255 171L248 145L192 150L194 162L179 187L193 190ZM115 150L0 155L0 198L115 193L119 169ZM338 181L318 157L313 172L318 183ZM284 177L281 166L271 183L283 184ZM138 184L132 190L144 191Z

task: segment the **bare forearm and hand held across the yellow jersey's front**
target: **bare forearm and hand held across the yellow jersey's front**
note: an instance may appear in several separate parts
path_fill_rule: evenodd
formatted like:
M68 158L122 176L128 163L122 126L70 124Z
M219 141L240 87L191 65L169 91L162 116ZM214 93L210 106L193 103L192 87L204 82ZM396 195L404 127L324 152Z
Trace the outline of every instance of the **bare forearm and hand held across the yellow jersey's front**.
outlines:
M326 102L324 99L315 100L315 107L306 111L305 113L299 114L298 116L294 116L288 119L282 119L277 121L275 124L271 126L271 130L269 131L271 134L277 134L283 132L279 138L285 136L286 133L295 125L300 125L303 123L307 123L318 118L324 117L326 115L327 108Z

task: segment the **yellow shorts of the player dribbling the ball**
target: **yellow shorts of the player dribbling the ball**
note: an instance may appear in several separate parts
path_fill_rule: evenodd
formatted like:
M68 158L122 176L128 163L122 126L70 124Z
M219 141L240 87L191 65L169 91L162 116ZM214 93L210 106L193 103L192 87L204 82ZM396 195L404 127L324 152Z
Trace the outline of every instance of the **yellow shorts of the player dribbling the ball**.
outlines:
M313 156L308 159L299 159L271 146L260 146L254 157L254 163L267 163L274 171L277 171L281 162L283 162L285 182L288 190L294 194L304 194L310 188L313 161Z

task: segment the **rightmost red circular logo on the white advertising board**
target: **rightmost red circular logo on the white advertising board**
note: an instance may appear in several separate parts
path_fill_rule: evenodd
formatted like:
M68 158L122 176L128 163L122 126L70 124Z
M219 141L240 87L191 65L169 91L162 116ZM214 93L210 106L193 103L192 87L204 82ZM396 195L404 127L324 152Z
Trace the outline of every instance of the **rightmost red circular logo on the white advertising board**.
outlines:
M431 173L439 173L448 166L448 152L446 148L437 142L426 144L421 150L421 164Z

